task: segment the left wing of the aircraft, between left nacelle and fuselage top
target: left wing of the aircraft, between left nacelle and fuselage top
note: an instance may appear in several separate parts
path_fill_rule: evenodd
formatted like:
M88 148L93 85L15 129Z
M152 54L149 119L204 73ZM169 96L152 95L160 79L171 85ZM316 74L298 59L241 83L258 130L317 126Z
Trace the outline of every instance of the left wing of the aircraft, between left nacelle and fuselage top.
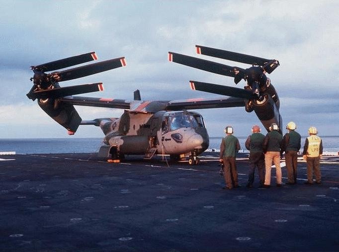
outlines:
M97 98L84 96L66 96L60 98L60 101L66 104L78 106L104 107L104 108L122 108L130 109L130 100Z

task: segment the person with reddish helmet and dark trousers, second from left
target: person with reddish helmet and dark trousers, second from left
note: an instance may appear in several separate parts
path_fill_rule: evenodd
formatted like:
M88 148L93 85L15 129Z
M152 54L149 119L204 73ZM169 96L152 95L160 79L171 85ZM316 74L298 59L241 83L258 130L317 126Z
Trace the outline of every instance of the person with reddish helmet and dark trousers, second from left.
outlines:
M246 187L253 187L254 182L254 171L255 167L258 169L260 186L263 187L265 174L264 174L264 161L265 157L263 155L262 144L265 136L260 133L260 127L254 125L252 127L252 135L250 135L246 142L246 149L250 151L249 162L250 162L250 170L249 170L249 180Z

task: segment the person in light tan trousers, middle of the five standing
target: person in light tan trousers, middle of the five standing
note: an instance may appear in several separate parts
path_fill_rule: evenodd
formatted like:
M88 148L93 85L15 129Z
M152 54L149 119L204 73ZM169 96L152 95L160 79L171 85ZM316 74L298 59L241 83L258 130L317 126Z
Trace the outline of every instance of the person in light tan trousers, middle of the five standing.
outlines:
M280 150L282 135L278 130L278 125L276 123L272 123L269 127L269 132L263 140L263 150L265 153L265 182L263 187L266 188L271 185L272 161L276 169L276 186L281 186Z

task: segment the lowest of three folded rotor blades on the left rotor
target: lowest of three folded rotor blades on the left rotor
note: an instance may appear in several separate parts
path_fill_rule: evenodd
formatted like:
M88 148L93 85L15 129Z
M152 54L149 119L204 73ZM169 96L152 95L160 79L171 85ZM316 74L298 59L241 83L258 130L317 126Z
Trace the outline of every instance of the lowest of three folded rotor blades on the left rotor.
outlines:
M83 84L75 86L56 87L53 89L44 89L35 92L33 91L27 93L27 97L30 99L59 98L74 94L90 93L102 90L103 90L102 83Z

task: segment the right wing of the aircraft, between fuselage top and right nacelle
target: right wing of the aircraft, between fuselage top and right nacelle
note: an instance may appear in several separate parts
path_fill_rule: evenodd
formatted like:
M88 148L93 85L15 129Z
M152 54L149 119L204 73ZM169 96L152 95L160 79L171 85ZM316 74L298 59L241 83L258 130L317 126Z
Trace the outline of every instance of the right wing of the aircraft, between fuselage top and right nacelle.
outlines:
M168 102L166 109L180 110L180 109L228 108L244 106L245 99L243 98L221 96L219 98L171 100Z

